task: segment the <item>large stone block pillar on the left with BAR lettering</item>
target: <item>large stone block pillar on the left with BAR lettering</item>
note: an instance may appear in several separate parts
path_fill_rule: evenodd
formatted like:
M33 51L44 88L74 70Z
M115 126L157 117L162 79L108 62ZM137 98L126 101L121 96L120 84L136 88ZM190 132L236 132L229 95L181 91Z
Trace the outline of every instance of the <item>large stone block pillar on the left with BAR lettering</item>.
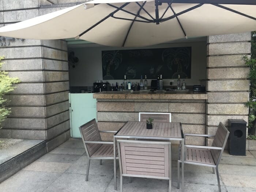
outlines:
M0 0L3 25L39 15L38 1ZM13 10L13 11L12 11ZM40 14L41 15L41 14ZM49 29L50 30L50 29ZM21 83L7 95L12 113L1 125L0 137L47 141L48 151L70 137L69 75L64 40L1 37L3 68Z

